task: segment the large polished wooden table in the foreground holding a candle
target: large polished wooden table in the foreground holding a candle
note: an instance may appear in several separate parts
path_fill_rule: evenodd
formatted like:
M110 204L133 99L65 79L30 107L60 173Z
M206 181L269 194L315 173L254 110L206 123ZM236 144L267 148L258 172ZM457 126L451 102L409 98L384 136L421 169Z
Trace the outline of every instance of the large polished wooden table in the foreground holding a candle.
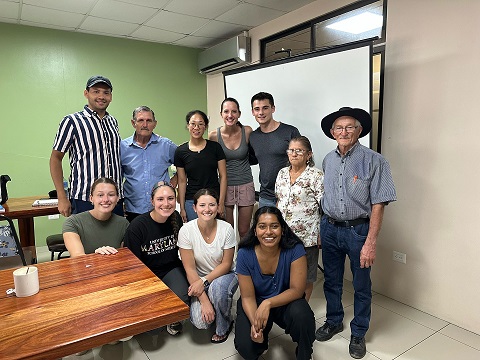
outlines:
M0 359L58 359L189 317L189 308L127 248L35 265L40 292L6 295L0 271Z

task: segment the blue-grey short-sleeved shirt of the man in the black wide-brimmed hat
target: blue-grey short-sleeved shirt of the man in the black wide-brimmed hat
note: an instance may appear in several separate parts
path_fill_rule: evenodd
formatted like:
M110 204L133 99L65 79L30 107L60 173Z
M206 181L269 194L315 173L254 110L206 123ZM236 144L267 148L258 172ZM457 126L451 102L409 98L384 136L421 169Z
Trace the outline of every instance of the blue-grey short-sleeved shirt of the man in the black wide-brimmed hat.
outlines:
M370 217L372 204L397 199L387 160L359 142L345 156L338 148L328 153L322 168L322 209L335 220Z

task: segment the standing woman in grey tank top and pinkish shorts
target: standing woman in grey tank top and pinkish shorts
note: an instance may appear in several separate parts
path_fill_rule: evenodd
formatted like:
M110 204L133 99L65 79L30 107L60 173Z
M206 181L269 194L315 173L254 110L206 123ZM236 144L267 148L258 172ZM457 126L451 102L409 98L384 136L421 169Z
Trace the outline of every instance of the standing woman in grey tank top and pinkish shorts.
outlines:
M217 141L225 152L228 178L225 219L233 226L233 210L237 205L238 233L242 238L250 228L255 204L255 186L248 156L248 138L252 128L238 121L241 115L240 105L234 98L222 101L220 115L224 125L211 131L208 138Z

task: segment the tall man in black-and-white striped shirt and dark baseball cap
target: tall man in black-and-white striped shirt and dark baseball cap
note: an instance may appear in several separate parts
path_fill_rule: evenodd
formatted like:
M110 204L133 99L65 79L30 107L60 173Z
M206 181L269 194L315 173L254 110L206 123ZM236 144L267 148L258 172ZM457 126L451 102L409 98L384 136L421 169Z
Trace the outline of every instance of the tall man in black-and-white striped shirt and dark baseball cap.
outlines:
M50 174L58 196L58 211L63 216L93 209L88 201L92 183L100 177L115 181L123 198L120 135L117 120L107 112L112 101L112 83L104 76L92 76L83 95L82 111L63 118L50 155ZM64 190L62 159L70 158L69 194ZM114 212L123 215L123 201Z

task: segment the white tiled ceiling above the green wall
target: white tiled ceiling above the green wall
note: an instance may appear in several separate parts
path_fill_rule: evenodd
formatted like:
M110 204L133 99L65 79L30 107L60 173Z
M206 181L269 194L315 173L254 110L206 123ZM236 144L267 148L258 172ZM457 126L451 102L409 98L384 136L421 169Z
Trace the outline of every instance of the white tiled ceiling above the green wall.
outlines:
M0 0L0 22L208 48L315 0Z

